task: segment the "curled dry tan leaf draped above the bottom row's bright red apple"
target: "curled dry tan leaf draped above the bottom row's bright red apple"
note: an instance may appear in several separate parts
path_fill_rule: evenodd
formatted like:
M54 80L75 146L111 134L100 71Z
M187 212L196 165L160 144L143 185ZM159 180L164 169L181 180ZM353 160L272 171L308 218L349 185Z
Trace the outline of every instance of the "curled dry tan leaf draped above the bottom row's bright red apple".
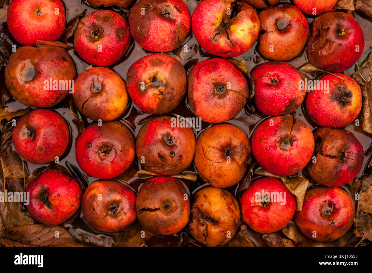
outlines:
M288 189L291 194L293 194L296 198L296 211L302 210L302 205L304 204L304 198L306 189L309 185L309 181L298 175L288 175L288 176L279 176L273 175L269 173L267 170L263 169L262 167L257 168L254 173L260 176L269 176L280 179L284 186Z

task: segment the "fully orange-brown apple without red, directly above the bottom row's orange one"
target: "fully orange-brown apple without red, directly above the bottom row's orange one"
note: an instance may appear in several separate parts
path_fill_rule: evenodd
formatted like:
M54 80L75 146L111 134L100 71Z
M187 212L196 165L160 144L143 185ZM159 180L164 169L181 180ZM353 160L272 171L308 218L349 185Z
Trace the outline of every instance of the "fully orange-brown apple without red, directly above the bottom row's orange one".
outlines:
M216 124L198 137L195 167L205 182L227 188L243 178L250 153L248 137L241 129L231 124Z

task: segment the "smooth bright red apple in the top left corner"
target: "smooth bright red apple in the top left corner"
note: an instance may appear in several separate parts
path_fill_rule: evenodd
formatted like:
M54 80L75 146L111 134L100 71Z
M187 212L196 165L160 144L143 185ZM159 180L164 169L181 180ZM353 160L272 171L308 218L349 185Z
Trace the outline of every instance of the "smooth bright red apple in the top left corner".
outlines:
M65 7L60 0L12 0L6 21L17 42L35 46L37 40L55 41L62 36L66 25Z

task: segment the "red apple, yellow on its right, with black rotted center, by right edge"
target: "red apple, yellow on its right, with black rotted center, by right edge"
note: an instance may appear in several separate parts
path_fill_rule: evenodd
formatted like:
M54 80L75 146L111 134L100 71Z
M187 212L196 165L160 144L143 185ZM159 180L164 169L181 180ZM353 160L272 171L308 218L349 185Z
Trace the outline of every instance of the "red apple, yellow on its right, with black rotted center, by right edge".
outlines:
M329 92L315 90L305 98L306 113L319 126L345 127L362 109L362 91L356 81L345 74L335 75L345 80L327 74L320 81L329 82Z

